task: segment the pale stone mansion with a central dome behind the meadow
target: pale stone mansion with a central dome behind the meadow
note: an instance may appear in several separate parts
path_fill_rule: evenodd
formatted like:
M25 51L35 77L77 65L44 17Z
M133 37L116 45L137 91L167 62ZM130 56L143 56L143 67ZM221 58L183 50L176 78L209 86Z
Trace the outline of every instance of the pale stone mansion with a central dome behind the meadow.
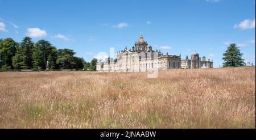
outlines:
M201 67L212 67L213 62L203 61L198 53L193 53L191 60L181 60L181 56L163 54L153 50L143 39L142 33L135 42L132 49L127 46L118 51L115 59L107 58L97 63L97 71L147 71L154 69L196 69Z

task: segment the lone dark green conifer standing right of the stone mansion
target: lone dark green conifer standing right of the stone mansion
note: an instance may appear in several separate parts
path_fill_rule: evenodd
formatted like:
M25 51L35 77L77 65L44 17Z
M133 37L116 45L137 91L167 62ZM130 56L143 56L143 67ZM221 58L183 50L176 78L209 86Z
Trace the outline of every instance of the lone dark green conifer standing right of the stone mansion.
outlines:
M242 53L236 44L230 44L226 52L223 54L224 67L237 67L244 66L245 62L242 59Z

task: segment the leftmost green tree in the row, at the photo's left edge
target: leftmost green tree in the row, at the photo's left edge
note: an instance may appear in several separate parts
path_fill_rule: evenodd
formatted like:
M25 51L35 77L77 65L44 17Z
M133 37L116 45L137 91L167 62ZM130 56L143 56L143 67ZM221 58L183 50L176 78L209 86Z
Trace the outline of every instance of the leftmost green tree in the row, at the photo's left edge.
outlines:
M0 53L1 53L1 65L4 69L13 69L12 57L15 56L16 48L19 44L13 39L7 38L1 41Z

